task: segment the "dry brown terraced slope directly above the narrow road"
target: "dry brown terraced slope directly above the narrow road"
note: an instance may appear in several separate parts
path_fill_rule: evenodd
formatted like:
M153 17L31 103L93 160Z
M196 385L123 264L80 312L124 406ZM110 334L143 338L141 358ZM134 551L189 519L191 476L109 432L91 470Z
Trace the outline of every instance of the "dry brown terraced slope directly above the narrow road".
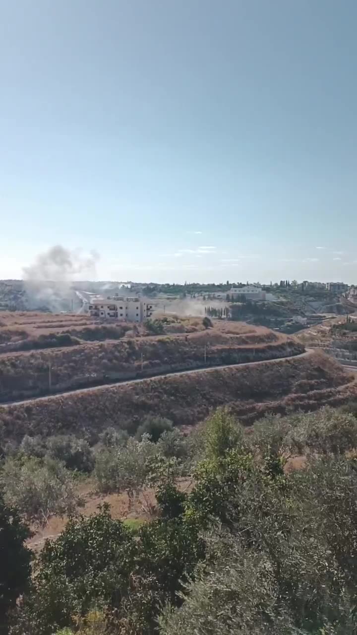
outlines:
M69 319L75 316L63 317ZM201 328L201 321L196 320L196 327L192 320L182 323L187 323L185 328L189 330ZM49 366L51 391L60 392L109 380L133 378L137 373L140 376L141 371L150 375L198 368L205 364L205 359L208 365L215 366L280 358L303 350L301 344L267 328L223 321L217 321L214 328L208 330L176 335L130 338L126 334L119 340L3 353L0 355L0 395L1 401L6 402L47 394Z

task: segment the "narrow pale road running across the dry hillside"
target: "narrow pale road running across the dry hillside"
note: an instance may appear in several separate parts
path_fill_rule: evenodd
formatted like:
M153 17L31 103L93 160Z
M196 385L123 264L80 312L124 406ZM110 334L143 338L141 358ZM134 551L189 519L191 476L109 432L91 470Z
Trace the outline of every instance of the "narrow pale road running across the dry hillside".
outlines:
M300 353L299 355L291 355L283 358L276 359L261 359L260 361L248 361L243 364L225 364L224 366L209 366L208 368L192 368L192 370L177 370L172 373L165 373L164 375L152 375L151 377L144 377L140 379L129 379L129 380L119 380L118 382L111 382L111 384L102 384L97 386L90 386L88 388L77 388L76 390L68 390L63 392L53 392L50 395L46 395L44 397L29 397L27 399L21 399L20 401L6 401L5 403L0 403L0 408L9 408L15 404L29 403L29 401L44 401L44 399L53 399L55 397L61 397L62 395L71 396L73 394L77 394L78 392L89 392L89 391L102 391L107 390L113 386L117 385L128 385L128 384L138 384L138 382L147 382L147 380L154 379L156 377L174 377L175 375L191 375L191 373L209 373L214 370L222 370L222 368L238 368L241 366L255 366L257 364L269 364L273 361L283 361L283 359L297 359L308 357L314 351L312 349L307 350L304 353Z

